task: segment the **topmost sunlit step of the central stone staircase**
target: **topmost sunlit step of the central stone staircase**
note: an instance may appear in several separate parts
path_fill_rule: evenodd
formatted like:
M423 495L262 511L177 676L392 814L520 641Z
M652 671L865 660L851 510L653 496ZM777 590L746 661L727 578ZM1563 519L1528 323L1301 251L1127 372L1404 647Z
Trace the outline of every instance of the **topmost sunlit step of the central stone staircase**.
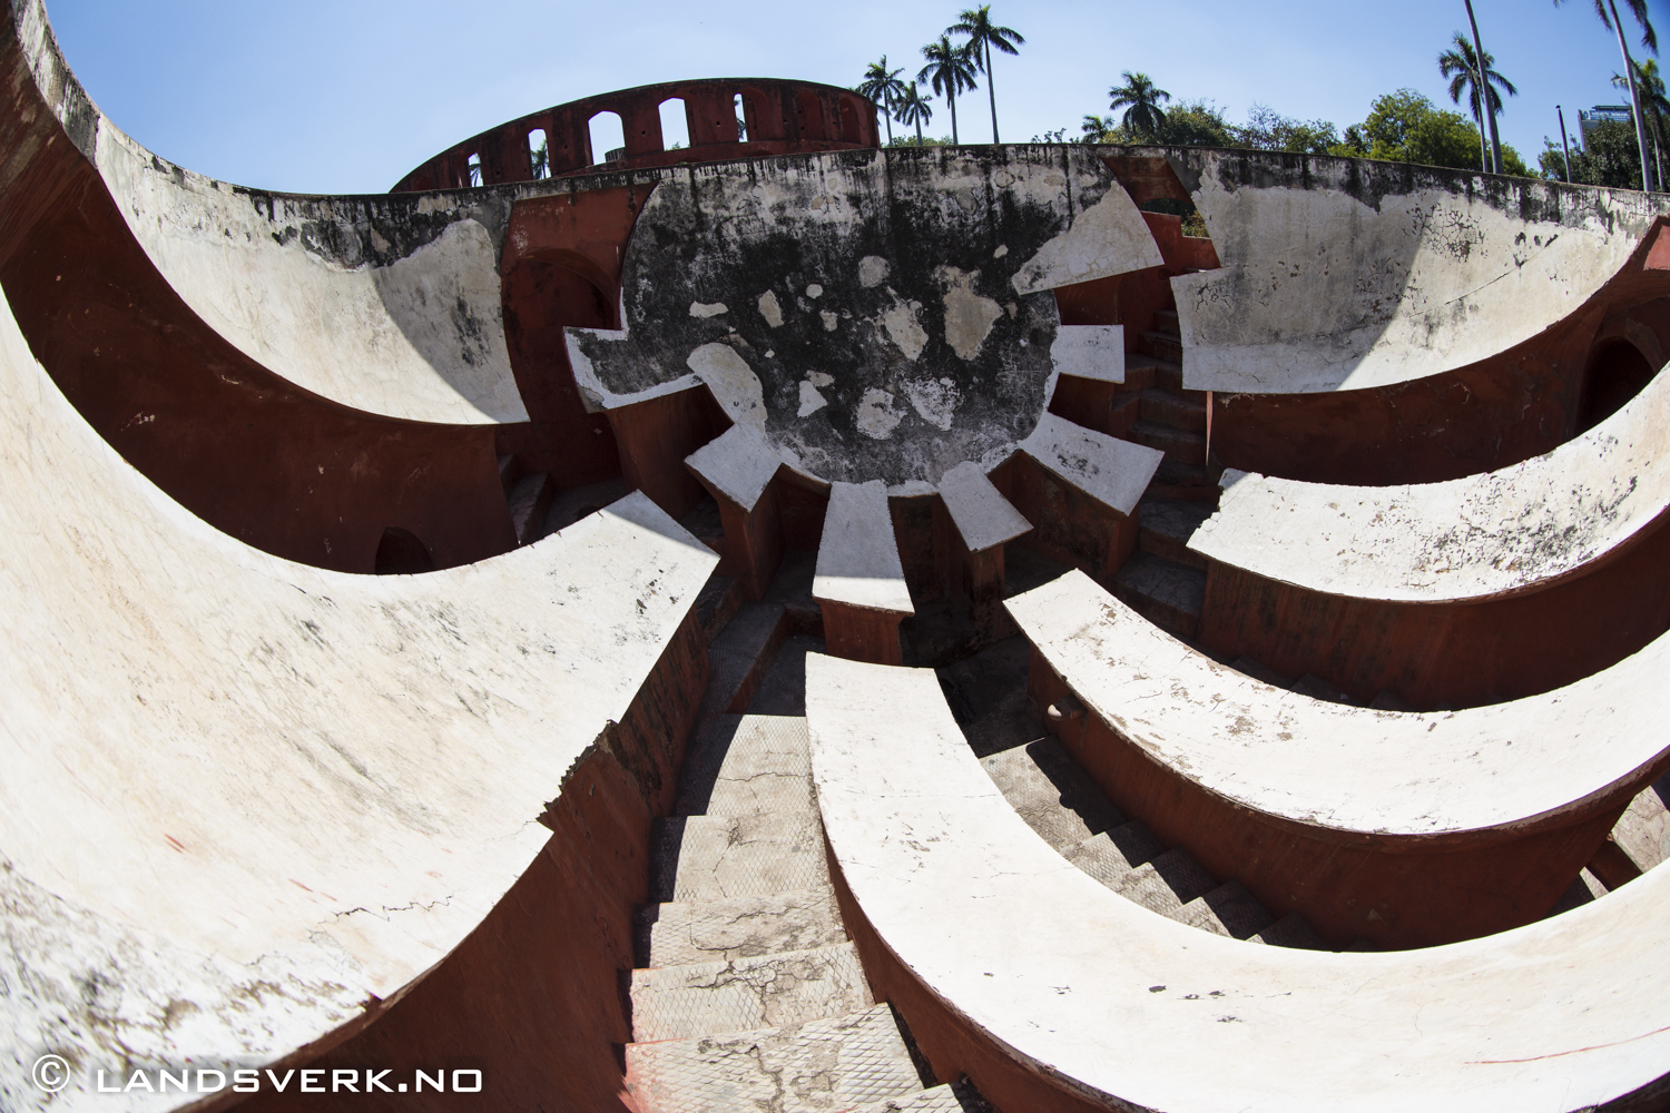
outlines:
M701 726L685 758L673 814L812 814L815 808L807 721L797 716L721 714Z

